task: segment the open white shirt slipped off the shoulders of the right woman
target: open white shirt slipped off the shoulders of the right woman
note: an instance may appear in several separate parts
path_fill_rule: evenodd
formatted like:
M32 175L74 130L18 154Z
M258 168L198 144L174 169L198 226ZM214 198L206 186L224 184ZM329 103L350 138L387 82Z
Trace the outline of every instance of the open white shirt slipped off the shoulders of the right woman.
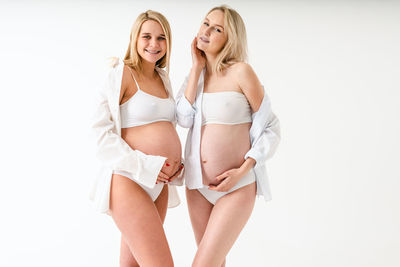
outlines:
M178 124L190 128L185 145L185 184L189 189L203 187L200 138L202 124L202 98L204 89L204 72L202 71L198 85L196 100L193 105L186 99L184 92L187 87L186 78L176 96ZM264 91L264 98L257 112L252 114L250 128L251 149L244 156L256 161L254 172L257 182L257 195L264 196L266 201L271 199L271 191L267 176L266 160L272 157L280 141L279 120L271 110L270 100Z

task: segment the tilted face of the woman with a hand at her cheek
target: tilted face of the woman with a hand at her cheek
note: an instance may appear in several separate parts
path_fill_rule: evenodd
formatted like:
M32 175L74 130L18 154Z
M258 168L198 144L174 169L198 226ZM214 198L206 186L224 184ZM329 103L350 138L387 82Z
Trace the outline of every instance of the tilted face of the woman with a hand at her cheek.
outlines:
M227 40L224 27L224 12L221 10L210 12L197 34L197 48L206 54L218 54Z

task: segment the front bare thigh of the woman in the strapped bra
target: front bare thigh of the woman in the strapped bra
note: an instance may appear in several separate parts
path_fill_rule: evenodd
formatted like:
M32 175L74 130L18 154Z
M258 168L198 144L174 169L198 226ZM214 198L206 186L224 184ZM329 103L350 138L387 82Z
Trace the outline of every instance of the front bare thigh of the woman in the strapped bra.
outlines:
M173 266L162 226L166 207L157 209L154 204L138 184L124 176L113 174L111 216L134 258L140 266ZM163 213L162 216L159 210Z

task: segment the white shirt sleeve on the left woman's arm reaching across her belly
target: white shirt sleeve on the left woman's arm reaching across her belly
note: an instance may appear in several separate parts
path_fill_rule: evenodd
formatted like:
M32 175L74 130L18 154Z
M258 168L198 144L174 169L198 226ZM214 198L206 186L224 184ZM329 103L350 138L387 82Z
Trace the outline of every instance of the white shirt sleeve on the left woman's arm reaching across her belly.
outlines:
M128 172L139 183L153 188L166 158L133 150L121 138L113 121L106 93L111 86L112 78L109 75L99 94L92 123L97 142L96 155L110 169Z

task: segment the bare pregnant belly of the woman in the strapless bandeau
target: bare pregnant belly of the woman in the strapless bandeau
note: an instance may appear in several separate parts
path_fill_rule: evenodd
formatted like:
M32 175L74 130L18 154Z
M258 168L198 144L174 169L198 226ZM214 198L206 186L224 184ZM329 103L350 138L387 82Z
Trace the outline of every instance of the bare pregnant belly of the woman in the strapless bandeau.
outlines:
M250 123L237 125L208 124L201 129L200 156L203 184L218 184L215 177L239 168L249 151Z

